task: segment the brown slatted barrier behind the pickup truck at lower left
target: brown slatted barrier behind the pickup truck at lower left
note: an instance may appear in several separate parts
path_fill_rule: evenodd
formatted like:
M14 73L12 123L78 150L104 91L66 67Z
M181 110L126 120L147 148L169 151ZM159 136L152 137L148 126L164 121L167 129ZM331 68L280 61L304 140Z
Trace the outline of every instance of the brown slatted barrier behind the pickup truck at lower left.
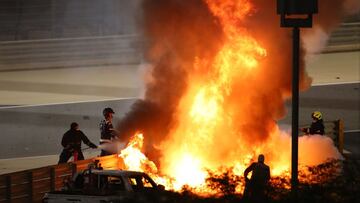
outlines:
M41 202L46 192L60 190L63 183L77 171L98 160L104 169L123 168L117 155L46 166L0 176L0 203Z

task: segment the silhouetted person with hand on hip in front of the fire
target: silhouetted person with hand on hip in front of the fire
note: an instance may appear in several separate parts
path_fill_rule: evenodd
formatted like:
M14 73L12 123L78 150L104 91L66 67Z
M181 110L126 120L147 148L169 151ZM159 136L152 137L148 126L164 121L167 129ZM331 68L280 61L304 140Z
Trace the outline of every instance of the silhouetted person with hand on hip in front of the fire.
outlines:
M270 180L270 167L265 163L265 156L260 154L258 162L252 163L244 171L245 190L244 200L250 202L266 202L266 188ZM251 178L248 174L252 172Z

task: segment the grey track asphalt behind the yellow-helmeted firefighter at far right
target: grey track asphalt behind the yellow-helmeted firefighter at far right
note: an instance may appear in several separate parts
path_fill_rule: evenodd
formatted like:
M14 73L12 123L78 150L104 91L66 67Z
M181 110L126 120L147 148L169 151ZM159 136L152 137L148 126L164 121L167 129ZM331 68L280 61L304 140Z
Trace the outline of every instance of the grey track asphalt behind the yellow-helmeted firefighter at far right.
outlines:
M291 125L291 101L281 124ZM311 113L321 111L324 121L342 119L345 131L360 131L360 83L313 86L300 94L299 125L311 123ZM360 145L359 145L360 146Z

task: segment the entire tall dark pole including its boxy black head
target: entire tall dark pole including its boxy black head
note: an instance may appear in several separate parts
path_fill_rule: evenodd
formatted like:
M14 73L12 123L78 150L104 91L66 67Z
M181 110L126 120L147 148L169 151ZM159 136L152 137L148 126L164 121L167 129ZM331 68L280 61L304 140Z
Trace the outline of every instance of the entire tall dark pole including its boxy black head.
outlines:
M299 155L299 72L300 28L311 28L313 14L318 12L318 0L277 0L277 13L281 27L293 28L292 55L292 120L291 120L291 192L293 202L298 201L298 155ZM306 18L291 18L291 15L306 15Z

